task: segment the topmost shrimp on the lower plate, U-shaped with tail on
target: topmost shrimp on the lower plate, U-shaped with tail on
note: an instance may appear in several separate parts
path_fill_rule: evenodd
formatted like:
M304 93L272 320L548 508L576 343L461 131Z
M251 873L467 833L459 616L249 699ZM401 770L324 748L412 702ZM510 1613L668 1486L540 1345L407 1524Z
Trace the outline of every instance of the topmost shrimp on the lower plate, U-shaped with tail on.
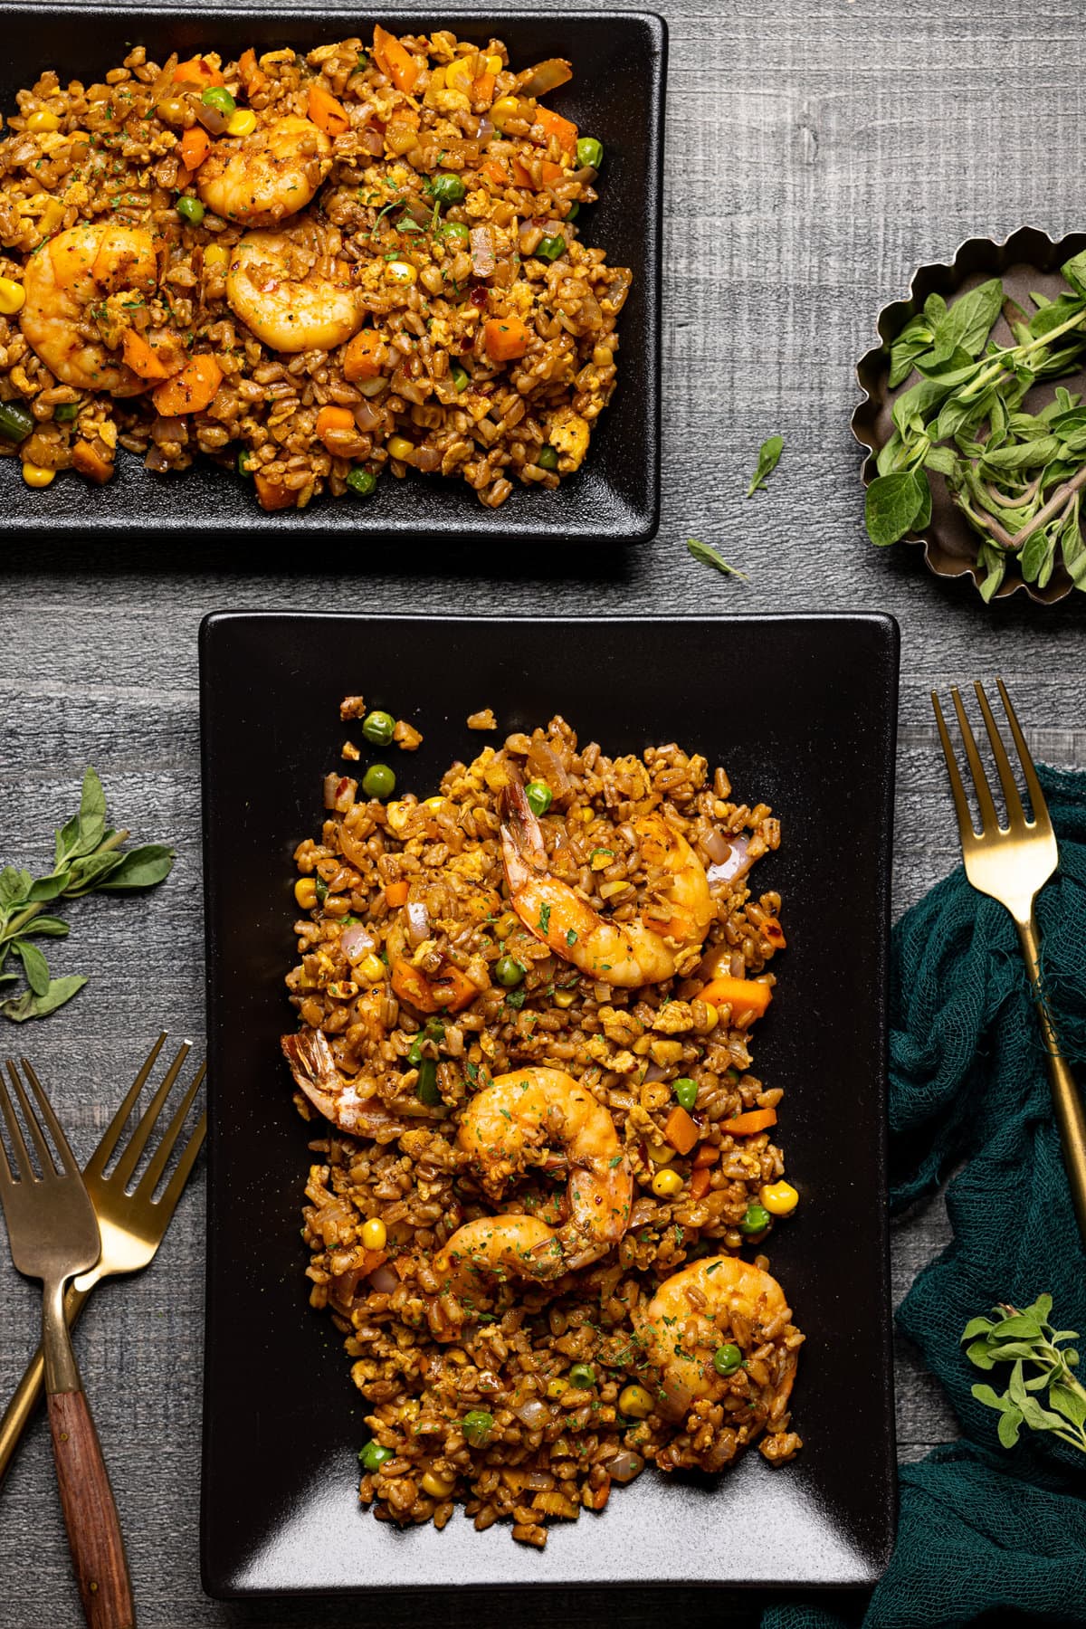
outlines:
M668 902L655 917L612 922L547 870L542 829L519 780L503 790L501 813L510 902L555 956L607 984L637 987L672 977L682 951L702 945L715 914L705 867L663 814L643 814L633 831L646 863L669 876Z

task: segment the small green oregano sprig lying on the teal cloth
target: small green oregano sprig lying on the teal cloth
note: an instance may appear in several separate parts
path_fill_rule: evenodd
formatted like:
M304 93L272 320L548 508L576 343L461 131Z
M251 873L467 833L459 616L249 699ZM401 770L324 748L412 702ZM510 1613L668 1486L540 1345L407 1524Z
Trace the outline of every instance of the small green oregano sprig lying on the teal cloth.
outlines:
M1078 1339L1078 1331L1053 1329L1050 1311L1052 1297L1039 1295L1032 1306L1021 1311L1001 1303L992 1308L992 1318L972 1318L966 1324L966 1357L977 1368L1014 1365L1005 1393L977 1385L972 1394L998 1411L1005 1448L1013 1448L1023 1425L1029 1425L1031 1430L1050 1430L1086 1453L1086 1388L1075 1377L1078 1352L1073 1347L1062 1350L1066 1341ZM1037 1398L1045 1390L1049 1407Z

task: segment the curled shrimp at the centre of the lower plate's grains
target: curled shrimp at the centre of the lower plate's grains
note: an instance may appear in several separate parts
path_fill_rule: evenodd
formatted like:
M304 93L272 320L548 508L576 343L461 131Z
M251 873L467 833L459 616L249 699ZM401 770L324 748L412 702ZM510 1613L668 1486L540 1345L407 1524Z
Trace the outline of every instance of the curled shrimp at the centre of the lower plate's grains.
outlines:
M484 1087L464 1111L456 1140L484 1188L500 1197L510 1176L529 1163L568 1166L568 1222L528 1256L521 1277L554 1277L585 1267L617 1245L630 1222L633 1176L607 1109L560 1069L518 1069ZM547 1152L557 1145L562 1153ZM544 1150L532 1160L534 1150Z

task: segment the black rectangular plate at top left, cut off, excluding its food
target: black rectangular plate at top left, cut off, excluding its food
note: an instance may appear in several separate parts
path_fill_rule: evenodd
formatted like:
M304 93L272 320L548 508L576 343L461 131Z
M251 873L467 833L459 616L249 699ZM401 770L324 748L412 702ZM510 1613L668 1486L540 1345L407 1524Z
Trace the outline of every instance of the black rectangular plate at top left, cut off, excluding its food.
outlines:
M0 536L26 531L112 536L153 529L177 542L215 531L225 544L259 538L261 559L277 565L275 539L291 555L298 534L396 536L410 541L516 538L549 542L637 542L659 525L659 264L668 26L642 11L360 11L344 3L321 10L264 11L195 5L192 8L96 10L88 7L0 5L8 49L0 65L0 112L15 112L15 93L46 68L60 83L85 85L124 60L130 46L147 46L164 62L171 50L238 54L246 46L272 50L368 34L373 23L401 34L451 28L485 44L497 36L515 67L568 57L573 80L552 98L606 148L599 202L583 230L607 251L612 266L633 270L633 287L619 319L619 386L593 435L576 476L557 492L515 484L497 508L485 508L462 481L409 472L384 476L373 498L327 495L298 512L265 515L252 484L202 458L179 476L155 476L142 461L117 456L117 474L91 487L63 474L49 494L33 492L16 458L0 459ZM135 539L138 542L138 538ZM360 562L365 557L360 555ZM254 557L254 562L259 560Z

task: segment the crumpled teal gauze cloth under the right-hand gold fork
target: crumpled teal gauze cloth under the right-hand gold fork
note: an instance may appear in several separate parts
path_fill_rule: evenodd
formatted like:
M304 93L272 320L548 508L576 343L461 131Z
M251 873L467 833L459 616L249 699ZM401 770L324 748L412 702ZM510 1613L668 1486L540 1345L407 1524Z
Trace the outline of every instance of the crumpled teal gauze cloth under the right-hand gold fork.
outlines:
M1060 870L1037 917L1057 1033L1086 1088L1086 774L1039 771ZM951 818L949 800L946 818ZM931 1629L975 1622L1086 1622L1086 1456L1050 1434L996 1440L998 1416L970 1394L1006 1388L959 1344L996 1302L1053 1298L1052 1321L1081 1331L1086 1254L1075 1223L1049 1077L1011 917L954 872L909 911L891 942L891 1209L954 1171L954 1238L915 1279L899 1328L939 1378L962 1438L899 1473L889 1569L866 1601L780 1603L762 1629ZM808 1362L817 1362L811 1354ZM829 1420L798 1420L806 1435ZM855 1451L863 1451L856 1447Z

